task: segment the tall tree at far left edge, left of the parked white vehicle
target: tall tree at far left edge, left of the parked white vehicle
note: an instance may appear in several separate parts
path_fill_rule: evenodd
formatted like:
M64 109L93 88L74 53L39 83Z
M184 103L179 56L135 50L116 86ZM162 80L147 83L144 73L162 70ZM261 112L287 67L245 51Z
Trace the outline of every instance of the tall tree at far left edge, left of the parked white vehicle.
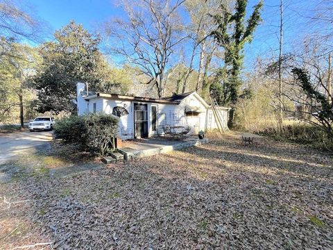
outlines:
M26 94L24 81L31 55L26 47L20 47L17 42L40 42L46 30L44 23L32 13L21 2L0 0L0 122L12 108L19 106L22 128Z

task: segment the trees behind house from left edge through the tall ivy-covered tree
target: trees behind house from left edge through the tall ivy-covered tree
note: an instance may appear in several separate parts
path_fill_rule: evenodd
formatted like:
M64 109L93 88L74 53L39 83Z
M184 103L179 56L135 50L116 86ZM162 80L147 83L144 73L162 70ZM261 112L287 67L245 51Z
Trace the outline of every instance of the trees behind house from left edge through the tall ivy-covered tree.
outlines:
M29 47L22 42L35 41L42 26L15 3L6 0L0 6L5 17L1 64L8 73L1 80L2 118L15 106L22 108L25 100L39 113L72 112L77 81L89 83L94 91L122 94L139 83L143 94L158 98L193 90L207 95L212 90L216 97L223 95L221 104L234 104L241 85L242 49L259 24L262 7L259 2L246 21L245 0L235 6L231 1L139 0L133 4L124 0L123 18L105 22L98 35L73 21L56 31L51 42ZM185 21L185 15L189 20ZM105 53L99 49L101 42ZM123 67L112 67L110 55L121 58ZM210 88L222 75L229 79L224 93ZM8 85L16 86L15 90ZM8 94L13 91L19 101ZM25 91L35 98L24 100ZM22 117L23 110L20 113Z

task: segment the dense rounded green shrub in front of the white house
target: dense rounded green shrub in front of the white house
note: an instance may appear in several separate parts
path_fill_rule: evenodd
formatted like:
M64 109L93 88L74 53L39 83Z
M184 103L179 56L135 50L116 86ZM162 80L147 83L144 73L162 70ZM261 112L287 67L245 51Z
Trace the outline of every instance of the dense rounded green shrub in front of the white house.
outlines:
M65 143L76 143L87 151L105 156L114 150L117 128L118 119L111 115L72 115L56 122L54 133Z

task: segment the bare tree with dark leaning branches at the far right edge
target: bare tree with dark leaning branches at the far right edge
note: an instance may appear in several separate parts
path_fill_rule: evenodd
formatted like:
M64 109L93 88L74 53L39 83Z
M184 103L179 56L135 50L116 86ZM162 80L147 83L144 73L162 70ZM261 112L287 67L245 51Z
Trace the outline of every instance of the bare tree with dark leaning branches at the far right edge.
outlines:
M330 56L325 47L305 40L302 53L284 55L279 62L268 65L275 79L284 72L282 110L313 126L321 128L333 138L333 97L331 88ZM291 104L291 105L290 105Z

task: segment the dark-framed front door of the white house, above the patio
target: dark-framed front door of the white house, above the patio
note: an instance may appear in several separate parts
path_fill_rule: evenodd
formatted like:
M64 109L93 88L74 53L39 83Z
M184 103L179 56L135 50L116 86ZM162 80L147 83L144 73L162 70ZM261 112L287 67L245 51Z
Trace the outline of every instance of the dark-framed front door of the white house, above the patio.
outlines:
M148 106L147 104L134 103L135 138L148 137Z

